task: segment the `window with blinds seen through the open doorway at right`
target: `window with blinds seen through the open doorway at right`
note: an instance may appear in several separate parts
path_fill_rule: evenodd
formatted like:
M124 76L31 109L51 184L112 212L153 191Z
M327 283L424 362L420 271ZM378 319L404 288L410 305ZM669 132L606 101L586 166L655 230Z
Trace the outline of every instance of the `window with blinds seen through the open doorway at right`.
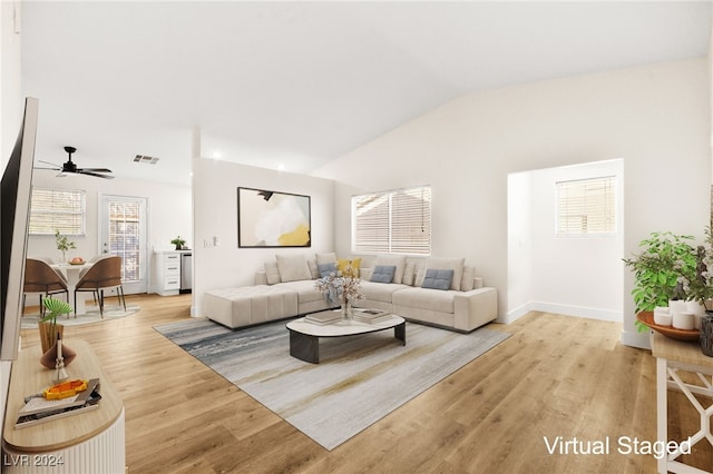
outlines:
M557 235L616 231L616 177L557 182Z

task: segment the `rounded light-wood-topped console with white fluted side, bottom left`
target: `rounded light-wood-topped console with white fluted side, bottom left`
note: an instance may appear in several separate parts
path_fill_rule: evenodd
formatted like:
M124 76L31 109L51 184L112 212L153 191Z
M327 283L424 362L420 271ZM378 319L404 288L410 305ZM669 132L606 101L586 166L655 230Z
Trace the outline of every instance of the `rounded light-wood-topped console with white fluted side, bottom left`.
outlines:
M52 385L55 371L40 365L39 346L20 350L12 363L2 431L3 473L124 473L126 466L124 404L98 364L89 344L67 339L77 358L69 378L99 378L101 401L89 412L16 428L27 395Z

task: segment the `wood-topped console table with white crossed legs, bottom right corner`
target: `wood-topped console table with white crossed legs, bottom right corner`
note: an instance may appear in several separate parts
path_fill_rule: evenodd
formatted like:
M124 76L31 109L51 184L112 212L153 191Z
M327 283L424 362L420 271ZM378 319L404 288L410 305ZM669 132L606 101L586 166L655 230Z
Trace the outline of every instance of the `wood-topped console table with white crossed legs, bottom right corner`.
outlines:
M652 354L656 357L656 423L657 441L668 442L668 398L667 389L677 389L685 394L688 402L701 415L701 428L691 434L691 444L707 441L713 445L711 434L711 415L713 415L713 402L704 407L693 394L713 397L713 357L707 357L701 352L696 342L674 340L656 332L652 335ZM678 376L678 371L696 374L700 385L684 382ZM680 440L683 441L683 440ZM683 464L676 458L680 452L671 453L658 460L658 473L705 473L706 471Z

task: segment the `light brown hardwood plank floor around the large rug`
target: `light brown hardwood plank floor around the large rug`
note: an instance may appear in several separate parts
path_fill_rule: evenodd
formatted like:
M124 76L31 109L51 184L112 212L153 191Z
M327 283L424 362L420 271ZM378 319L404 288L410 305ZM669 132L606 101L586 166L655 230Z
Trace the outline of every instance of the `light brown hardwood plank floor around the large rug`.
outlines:
M130 473L656 472L653 456L617 452L619 436L655 441L656 421L655 359L619 344L616 323L530 313L491 324L512 336L328 452L153 329L188 318L189 295L127 299L141 310L65 338L88 340L121 392ZM23 329L22 344L37 333ZM672 432L697 429L696 414L670 412ZM608 436L611 453L549 454L557 436ZM694 448L694 463L710 470L711 451Z

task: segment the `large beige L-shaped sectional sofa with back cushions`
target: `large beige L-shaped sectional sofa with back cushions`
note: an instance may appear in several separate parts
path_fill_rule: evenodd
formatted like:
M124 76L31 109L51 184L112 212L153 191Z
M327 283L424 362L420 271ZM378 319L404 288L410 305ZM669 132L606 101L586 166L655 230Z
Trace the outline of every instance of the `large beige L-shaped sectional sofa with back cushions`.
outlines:
M237 328L329 309L334 304L315 289L315 280L345 265L358 269L361 277L365 299L355 306L462 333L498 316L497 290L484 286L463 258L379 255L338 260L334 254L276 255L256 273L255 285L207 290L205 316Z

